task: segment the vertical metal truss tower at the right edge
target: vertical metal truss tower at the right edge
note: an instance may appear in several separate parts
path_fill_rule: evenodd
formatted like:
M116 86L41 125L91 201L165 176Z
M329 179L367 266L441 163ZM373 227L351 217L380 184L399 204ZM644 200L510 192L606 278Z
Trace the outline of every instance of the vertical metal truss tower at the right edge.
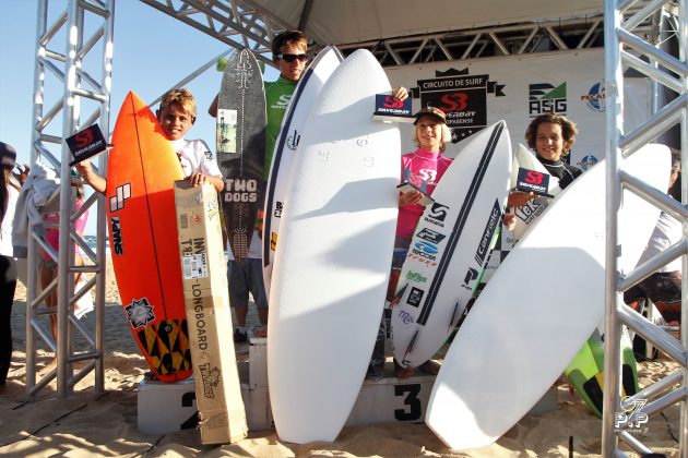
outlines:
M606 229L606 339L605 366L607 376L604 381L603 443L604 456L622 455L619 438L634 451L645 455L651 450L633 434L642 434L643 424L649 415L656 414L675 403L680 405L679 455L688 456L688 180L681 182L681 202L668 197L665 190L650 188L638 177L622 171L626 158L643 145L654 142L671 129L678 131L683 170L688 170L688 62L686 46L688 24L686 22L686 0L678 2L652 1L627 17L624 13L633 1L605 2L605 79L607 100L607 229ZM660 34L644 36L637 33L639 24L652 19L659 25ZM677 52L666 52L665 45L672 40L677 44ZM677 57L676 57L677 55ZM655 99L654 113L641 125L630 132L624 131L624 73L633 69L648 76L655 87L654 95L668 92L667 103ZM685 173L684 173L685 174ZM663 212L683 222L684 237L652 260L624 275L618 267L620 250L617 243L619 233L618 214L622 190L639 195L660 207ZM681 341L666 334L654 323L633 311L621 300L621 292L656 272L671 261L683 257L681 285ZM621 400L621 325L628 326L644 339L680 364L680 369L651 386L643 388L632 398ZM681 343L683 342L683 343Z

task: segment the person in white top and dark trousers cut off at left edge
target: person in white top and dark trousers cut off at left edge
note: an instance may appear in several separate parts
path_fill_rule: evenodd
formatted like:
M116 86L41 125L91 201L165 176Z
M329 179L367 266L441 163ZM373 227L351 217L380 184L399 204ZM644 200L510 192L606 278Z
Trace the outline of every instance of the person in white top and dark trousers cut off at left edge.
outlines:
M0 142L0 386L4 386L12 360L12 302L16 288L16 263L13 257L12 221L20 188L12 181L16 150Z

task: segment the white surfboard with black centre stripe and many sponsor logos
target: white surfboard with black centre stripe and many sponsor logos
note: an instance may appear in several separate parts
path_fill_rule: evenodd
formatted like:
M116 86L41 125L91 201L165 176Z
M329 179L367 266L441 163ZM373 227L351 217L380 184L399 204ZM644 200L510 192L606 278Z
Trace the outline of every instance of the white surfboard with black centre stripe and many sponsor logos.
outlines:
M485 269L501 224L511 141L499 121L471 137L416 226L392 309L394 357L416 367L440 349Z

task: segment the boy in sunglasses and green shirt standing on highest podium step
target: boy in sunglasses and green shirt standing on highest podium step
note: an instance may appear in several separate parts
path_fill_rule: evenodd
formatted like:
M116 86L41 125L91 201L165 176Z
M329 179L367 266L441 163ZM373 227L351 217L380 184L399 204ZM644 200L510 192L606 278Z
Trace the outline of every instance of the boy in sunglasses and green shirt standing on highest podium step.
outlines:
M272 61L280 69L280 77L273 82L265 82L265 112L268 126L265 129L265 166L263 181L270 176L272 154L275 148L282 119L292 100L292 95L308 63L308 38L299 31L286 31L272 40ZM217 96L207 112L217 116ZM263 183L264 184L264 183ZM257 228L262 227L262 212L259 213ZM261 228L262 229L262 228ZM229 303L234 308L237 322L235 323L234 341L246 342L246 316L248 314L249 292L253 297L261 325L268 324L268 298L263 285L261 263L261 238L259 230L253 231L248 258L241 263L234 260L229 251L227 263L227 278L229 281ZM265 330L254 330L257 337L264 337Z

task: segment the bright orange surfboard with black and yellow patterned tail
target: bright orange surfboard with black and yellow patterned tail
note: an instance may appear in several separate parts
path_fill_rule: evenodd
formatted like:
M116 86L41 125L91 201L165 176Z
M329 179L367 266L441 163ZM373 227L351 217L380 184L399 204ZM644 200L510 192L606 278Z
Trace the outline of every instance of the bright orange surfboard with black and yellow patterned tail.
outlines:
M110 252L124 315L163 382L192 374L173 183L179 159L149 107L130 92L107 164Z

